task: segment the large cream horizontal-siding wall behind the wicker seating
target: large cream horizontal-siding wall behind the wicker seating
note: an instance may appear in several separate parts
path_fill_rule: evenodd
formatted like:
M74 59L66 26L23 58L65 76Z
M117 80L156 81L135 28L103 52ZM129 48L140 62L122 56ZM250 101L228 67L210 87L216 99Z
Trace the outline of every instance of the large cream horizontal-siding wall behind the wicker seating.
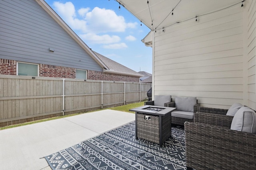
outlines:
M155 33L155 95L195 96L201 106L243 103L243 13L234 6Z

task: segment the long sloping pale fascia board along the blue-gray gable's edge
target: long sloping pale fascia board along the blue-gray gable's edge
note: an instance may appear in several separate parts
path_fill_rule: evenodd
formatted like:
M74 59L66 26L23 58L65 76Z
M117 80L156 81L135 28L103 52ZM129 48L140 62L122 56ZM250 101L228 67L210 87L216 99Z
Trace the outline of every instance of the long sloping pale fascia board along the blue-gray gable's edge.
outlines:
M63 28L65 31L103 68L109 70L93 52L92 50L74 33L74 31L58 16L58 14L44 1L36 0L36 2L44 8L44 10Z

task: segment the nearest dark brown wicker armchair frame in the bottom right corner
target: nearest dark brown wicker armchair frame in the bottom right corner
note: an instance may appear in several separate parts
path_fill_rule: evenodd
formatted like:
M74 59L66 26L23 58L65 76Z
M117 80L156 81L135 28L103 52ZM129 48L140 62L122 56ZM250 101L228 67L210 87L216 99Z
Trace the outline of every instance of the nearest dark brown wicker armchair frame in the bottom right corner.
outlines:
M256 134L230 129L233 116L195 113L185 122L188 170L239 169L256 166Z

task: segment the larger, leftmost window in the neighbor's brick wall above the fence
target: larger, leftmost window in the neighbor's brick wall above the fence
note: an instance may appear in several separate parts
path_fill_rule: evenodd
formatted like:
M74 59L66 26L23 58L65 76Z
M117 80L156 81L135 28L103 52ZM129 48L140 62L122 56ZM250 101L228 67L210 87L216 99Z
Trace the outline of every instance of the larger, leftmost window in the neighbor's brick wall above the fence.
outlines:
M17 75L38 76L38 64L17 63Z

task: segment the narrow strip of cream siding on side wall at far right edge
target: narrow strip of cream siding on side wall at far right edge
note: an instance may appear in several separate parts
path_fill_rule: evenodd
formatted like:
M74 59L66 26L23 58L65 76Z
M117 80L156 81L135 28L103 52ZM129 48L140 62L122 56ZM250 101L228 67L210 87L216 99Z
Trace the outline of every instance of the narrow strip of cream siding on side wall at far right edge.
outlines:
M248 106L256 110L256 86L255 86L255 72L256 72L256 66L255 66L255 48L256 48L256 1L249 0L247 2L247 33L246 33L246 39L247 39L247 49L246 49L246 61L248 62Z

